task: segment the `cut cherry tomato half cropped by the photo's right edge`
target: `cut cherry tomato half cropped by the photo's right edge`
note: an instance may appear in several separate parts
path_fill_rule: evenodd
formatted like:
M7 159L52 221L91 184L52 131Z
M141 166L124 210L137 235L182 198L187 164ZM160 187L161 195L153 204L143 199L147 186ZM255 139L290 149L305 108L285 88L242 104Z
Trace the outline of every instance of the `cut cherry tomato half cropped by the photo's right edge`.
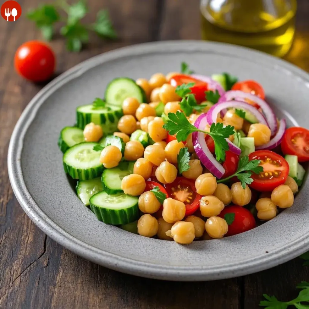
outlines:
M298 162L309 161L309 130L299 127L287 129L281 149L285 155L297 155Z

